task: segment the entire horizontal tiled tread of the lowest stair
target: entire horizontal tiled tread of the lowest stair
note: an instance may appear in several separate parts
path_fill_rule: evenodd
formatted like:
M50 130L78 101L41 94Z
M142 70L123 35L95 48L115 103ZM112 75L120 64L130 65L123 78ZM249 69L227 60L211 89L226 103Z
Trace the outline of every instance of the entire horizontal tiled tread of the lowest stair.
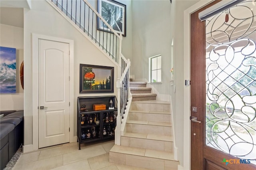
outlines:
M116 145L116 144L111 148L110 152L176 161L176 160L174 160L173 152L166 152L166 151L159 151L159 150L152 150L152 149L145 149L145 148L136 148L136 147L129 147L129 146L121 146L121 145Z

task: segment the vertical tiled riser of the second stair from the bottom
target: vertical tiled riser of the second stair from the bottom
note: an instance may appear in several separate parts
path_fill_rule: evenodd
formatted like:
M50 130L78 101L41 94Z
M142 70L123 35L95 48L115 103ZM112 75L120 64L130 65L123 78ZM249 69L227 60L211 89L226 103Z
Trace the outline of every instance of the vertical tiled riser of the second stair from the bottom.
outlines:
M121 145L173 152L173 142L121 136Z

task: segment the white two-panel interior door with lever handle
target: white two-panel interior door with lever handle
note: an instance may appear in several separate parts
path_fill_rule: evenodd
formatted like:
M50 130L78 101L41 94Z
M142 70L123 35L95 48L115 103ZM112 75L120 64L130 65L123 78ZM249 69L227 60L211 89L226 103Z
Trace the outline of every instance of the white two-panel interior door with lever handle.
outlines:
M69 142L69 44L38 40L39 148Z

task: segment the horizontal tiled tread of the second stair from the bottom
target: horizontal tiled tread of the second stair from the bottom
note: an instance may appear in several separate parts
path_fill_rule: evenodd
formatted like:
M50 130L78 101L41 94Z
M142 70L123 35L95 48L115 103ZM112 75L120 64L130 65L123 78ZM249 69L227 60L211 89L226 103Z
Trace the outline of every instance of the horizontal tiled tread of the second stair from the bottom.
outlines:
M141 138L141 139L150 139L150 140L161 140L166 142L173 142L172 136L166 136L161 134L146 134L146 133L133 133L133 132L125 132L125 137L131 138Z

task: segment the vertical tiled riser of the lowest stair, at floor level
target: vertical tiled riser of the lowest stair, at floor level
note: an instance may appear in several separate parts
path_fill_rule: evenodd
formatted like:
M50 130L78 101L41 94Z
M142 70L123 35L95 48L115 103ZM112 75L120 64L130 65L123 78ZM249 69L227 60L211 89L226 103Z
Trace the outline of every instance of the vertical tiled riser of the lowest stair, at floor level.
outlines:
M151 170L177 170L178 162L158 158L148 158L130 154L109 152L109 162L147 168Z

